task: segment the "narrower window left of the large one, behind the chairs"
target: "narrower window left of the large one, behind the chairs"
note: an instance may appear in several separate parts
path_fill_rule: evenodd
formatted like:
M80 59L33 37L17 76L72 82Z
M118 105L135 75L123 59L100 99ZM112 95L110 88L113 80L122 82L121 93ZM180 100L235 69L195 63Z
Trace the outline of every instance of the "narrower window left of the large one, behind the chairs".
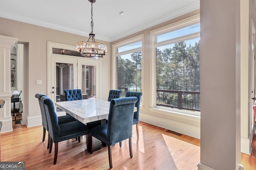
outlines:
M114 86L126 91L142 92L142 36L113 45L115 61Z

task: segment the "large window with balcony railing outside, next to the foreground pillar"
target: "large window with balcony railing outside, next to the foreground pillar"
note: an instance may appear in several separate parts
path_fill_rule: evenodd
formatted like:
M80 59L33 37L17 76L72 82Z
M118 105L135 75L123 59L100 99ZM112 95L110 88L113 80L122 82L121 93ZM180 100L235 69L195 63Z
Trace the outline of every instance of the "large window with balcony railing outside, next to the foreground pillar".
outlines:
M199 16L152 32L154 107L189 114L200 111Z

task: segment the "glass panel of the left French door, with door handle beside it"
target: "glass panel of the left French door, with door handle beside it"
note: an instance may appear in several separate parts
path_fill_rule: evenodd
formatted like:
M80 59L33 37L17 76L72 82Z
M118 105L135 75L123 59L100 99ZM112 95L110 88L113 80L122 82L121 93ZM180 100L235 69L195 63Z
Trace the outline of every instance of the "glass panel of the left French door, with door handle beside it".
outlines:
M56 102L64 101L64 90L74 89L73 64L56 63Z

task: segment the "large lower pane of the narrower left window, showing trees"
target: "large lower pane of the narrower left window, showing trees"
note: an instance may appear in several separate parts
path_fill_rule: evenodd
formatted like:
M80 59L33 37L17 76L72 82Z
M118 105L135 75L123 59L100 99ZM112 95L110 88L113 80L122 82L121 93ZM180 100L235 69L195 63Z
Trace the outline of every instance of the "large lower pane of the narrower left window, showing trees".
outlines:
M120 55L116 59L117 87L123 90L121 97L125 97L126 91L141 92L142 51Z

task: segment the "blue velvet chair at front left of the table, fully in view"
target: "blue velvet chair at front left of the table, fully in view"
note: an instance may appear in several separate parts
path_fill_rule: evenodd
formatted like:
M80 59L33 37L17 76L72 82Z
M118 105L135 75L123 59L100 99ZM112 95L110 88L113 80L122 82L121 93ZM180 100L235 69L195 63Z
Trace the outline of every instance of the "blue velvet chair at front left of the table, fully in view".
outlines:
M53 164L56 164L58 157L58 142L87 135L90 133L90 129L80 121L59 124L52 100L46 96L42 96L41 100L44 103L50 140L51 142L54 142ZM50 146L50 153L51 151L52 145Z

